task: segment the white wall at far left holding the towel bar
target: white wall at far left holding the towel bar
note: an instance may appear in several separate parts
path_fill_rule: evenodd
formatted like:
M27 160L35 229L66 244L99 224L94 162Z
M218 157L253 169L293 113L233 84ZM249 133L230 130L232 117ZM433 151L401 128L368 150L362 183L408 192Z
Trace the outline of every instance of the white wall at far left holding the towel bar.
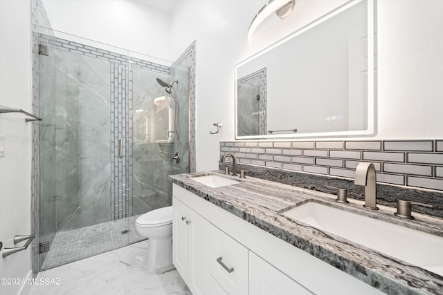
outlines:
M0 1L0 105L31 111L30 1ZM0 241L15 247L15 235L30 229L31 123L24 115L0 114L6 156L0 158ZM19 244L21 246L23 242ZM17 245L16 245L17 246ZM0 257L0 278L30 275L30 248ZM21 285L0 286L1 294L18 294Z

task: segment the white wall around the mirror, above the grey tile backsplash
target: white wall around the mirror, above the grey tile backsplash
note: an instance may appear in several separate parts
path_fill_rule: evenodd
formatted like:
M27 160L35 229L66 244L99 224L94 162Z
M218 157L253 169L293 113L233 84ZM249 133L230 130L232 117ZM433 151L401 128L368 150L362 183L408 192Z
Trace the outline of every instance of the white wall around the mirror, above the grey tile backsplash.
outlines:
M443 1L378 1L378 133L373 139L441 138ZM297 1L286 20L247 30L266 1L180 1L171 17L174 50L197 39L197 171L217 169L219 141L234 140L234 66L343 1ZM312 13L311 13L312 12ZM315 17L314 17L315 18ZM215 122L223 127L209 135Z

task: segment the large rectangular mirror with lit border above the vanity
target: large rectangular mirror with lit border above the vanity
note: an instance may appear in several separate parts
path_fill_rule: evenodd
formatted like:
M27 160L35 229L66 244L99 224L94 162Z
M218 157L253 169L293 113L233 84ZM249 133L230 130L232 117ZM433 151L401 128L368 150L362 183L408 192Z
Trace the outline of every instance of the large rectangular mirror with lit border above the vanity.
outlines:
M374 135L376 1L355 0L235 66L235 138Z

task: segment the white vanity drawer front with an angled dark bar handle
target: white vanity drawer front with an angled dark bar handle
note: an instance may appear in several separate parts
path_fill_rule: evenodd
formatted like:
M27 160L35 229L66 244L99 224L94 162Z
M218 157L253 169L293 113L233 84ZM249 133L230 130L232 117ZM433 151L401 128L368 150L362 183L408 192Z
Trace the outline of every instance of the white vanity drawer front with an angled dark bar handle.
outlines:
M227 294L248 294L248 249L215 228L211 235L210 274Z

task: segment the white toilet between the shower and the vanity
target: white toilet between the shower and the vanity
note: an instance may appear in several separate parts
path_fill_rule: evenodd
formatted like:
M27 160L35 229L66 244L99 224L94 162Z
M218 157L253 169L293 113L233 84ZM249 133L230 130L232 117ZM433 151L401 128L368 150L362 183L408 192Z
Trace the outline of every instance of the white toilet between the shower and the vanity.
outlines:
M152 274L172 269L172 206L152 210L136 219L138 234L149 238L147 268Z

